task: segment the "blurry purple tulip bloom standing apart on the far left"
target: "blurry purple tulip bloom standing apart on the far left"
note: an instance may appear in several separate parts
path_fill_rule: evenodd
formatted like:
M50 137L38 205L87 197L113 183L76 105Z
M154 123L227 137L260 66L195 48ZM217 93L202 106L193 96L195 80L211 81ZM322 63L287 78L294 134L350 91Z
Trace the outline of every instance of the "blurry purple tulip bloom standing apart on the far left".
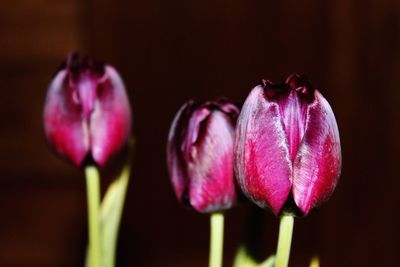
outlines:
M131 109L118 72L78 54L70 55L50 83L44 130L61 156L81 166L99 166L126 143Z

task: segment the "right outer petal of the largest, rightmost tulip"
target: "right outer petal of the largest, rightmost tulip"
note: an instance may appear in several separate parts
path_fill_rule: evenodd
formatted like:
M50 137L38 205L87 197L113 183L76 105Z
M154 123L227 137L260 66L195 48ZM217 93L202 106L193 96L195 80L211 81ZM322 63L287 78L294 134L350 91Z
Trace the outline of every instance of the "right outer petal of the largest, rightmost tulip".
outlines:
M293 198L306 215L329 198L341 167L339 131L325 98L315 91L307 112L306 129L293 163Z

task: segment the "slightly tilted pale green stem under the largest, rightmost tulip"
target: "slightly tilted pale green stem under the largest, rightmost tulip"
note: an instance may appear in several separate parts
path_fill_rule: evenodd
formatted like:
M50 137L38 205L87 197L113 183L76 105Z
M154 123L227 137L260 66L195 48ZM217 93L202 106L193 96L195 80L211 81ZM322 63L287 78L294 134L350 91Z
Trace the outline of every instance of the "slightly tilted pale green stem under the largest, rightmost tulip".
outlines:
M276 252L275 267L288 266L290 246L292 243L293 223L293 216L282 215L279 226L278 249Z

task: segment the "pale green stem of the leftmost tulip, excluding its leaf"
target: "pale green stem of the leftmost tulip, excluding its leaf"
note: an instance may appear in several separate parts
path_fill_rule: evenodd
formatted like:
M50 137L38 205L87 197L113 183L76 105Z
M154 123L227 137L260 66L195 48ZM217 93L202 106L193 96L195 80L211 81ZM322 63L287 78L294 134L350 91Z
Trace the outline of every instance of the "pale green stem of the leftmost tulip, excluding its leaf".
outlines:
M100 267L100 175L94 166L85 168L89 217L89 266Z

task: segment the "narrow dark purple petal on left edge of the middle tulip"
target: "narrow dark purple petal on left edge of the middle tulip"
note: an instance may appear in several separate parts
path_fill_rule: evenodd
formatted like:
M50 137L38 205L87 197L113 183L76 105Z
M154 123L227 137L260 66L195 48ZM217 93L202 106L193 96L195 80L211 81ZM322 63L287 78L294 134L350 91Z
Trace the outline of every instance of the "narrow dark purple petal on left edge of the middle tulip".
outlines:
M168 172L175 194L181 201L188 185L188 176L180 145L185 141L185 127L187 127L192 106L193 101L188 101L179 109L168 134Z

